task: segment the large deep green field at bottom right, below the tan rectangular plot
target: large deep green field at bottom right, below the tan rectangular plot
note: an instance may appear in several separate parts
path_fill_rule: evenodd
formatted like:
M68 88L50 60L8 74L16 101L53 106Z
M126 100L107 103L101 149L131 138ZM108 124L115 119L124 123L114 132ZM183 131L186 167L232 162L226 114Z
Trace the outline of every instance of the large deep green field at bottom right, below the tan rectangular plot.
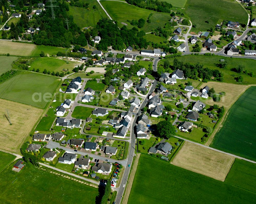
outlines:
M250 172L239 166L241 171L236 172L237 177L250 178L252 174L255 178L256 165L247 163L254 167L254 171ZM157 171L156 167L160 167L161 171ZM243 183L243 180L239 180L239 183ZM182 204L254 203L255 183L252 186L241 184L241 187L234 186L236 184L237 180L221 182L141 154L128 204L169 204L170 200L172 203Z

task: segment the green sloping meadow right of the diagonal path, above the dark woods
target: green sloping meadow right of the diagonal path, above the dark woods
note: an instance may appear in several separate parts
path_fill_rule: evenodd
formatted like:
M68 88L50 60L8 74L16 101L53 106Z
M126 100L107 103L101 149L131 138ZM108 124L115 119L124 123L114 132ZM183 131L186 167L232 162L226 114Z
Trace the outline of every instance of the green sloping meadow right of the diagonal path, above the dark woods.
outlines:
M100 1L100 3L111 16L111 18L118 22L118 26L120 28L123 26L121 22L124 22L127 23L127 27L131 29L133 26L126 20L139 20L140 18L147 20L149 14L153 13L150 18L151 23L146 22L142 28L139 28L139 30L144 30L147 33L156 29L158 26L163 27L164 24L171 18L170 14L140 8L123 2Z

